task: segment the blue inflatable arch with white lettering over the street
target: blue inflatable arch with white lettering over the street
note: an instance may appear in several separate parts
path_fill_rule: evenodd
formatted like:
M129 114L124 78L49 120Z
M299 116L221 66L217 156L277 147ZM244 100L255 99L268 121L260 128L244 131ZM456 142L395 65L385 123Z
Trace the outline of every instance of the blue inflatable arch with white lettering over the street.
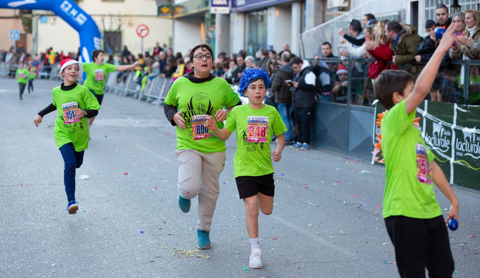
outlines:
M0 0L0 8L48 10L60 16L80 35L80 62L90 63L92 51L101 47L98 26L73 0Z

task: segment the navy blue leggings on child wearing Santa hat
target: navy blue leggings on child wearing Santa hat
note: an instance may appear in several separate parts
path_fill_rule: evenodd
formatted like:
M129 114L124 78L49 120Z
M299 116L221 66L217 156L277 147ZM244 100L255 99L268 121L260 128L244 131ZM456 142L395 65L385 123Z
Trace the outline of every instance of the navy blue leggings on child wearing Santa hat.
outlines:
M60 153L63 157L63 162L65 162L63 183L65 184L67 200L75 199L75 168L80 168L84 162L84 152L85 151L75 151L72 143L60 147Z

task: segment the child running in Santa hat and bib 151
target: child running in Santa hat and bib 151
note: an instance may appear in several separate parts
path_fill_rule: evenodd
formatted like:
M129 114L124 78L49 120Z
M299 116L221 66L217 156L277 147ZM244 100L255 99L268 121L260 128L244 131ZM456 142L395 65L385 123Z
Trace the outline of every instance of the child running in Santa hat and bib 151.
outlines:
M63 182L68 200L66 210L69 214L74 214L78 210L75 201L75 168L80 168L84 161L84 151L88 149L89 131L86 118L96 116L100 105L86 87L75 82L82 76L82 63L65 59L60 65L60 77L64 82L53 88L53 102L38 112L34 123L38 127L43 116L58 111L53 135L65 162Z

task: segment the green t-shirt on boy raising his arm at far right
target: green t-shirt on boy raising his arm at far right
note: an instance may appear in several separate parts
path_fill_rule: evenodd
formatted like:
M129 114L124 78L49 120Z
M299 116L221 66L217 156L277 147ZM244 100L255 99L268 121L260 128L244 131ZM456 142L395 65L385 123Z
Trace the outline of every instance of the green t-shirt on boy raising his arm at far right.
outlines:
M403 215L430 219L442 215L435 199L430 151L420 130L413 126L415 111L407 115L405 100L390 109L382 120L382 152L386 183L383 217Z

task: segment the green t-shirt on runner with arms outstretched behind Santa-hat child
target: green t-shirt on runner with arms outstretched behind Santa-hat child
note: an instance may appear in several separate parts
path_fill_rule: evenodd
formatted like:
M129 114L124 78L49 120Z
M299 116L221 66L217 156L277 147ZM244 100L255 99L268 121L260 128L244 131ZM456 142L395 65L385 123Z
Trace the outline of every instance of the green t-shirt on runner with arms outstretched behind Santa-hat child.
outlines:
M82 63L82 66L84 66L84 72L87 75L84 86L96 94L104 94L107 73L114 72L117 66L108 63L102 65Z

